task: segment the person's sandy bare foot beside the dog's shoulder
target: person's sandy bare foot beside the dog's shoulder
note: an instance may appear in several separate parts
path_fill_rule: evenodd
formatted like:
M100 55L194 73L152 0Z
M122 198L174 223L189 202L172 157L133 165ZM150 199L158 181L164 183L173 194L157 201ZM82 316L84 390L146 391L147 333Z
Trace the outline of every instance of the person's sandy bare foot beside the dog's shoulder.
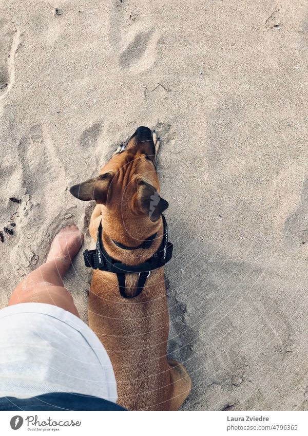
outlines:
M65 271L70 267L84 240L83 233L76 225L68 225L54 237L46 262L59 260Z

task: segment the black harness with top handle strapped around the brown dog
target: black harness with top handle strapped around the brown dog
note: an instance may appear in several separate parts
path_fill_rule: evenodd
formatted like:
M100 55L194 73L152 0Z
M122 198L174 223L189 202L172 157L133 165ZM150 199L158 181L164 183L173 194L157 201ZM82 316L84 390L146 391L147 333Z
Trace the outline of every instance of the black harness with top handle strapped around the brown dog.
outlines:
M129 266L125 263L119 262L119 260L113 259L106 252L104 248L104 244L102 242L102 221L100 222L98 228L98 239L97 239L97 247L95 250L85 250L83 252L85 265L86 267L93 268L94 270L98 269L101 271L108 271L110 273L117 274L118 282L119 282L119 290L120 294L123 298L134 298L141 294L146 279L151 274L151 271L156 270L157 268L163 267L172 257L172 249L173 245L171 242L168 242L168 226L165 220L165 217L162 215L163 225L164 225L164 234L162 242L158 248L158 250L145 262L140 263L137 266ZM141 245L138 247L127 247L126 245L120 244L119 242L114 242L115 245L124 249L124 250L137 250L140 248L147 249L151 246L153 240L156 237L156 233L147 238ZM138 285L136 288L136 292L133 295L127 295L125 293L125 274L139 273Z

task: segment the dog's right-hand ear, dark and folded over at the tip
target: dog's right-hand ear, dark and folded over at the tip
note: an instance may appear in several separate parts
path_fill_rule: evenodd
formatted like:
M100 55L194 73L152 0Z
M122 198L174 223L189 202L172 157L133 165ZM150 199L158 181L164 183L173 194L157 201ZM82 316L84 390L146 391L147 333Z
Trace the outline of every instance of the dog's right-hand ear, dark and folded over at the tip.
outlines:
M137 207L151 221L157 221L168 206L168 202L160 197L154 186L142 178L137 179Z

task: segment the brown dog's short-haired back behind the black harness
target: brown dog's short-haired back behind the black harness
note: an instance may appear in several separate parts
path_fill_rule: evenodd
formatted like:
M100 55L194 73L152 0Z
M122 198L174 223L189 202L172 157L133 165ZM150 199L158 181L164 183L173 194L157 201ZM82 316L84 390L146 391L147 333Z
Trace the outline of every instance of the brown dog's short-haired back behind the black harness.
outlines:
M138 275L127 275L126 286L136 287L137 281ZM168 307L162 270L153 271L142 293L131 300L120 296L114 274L94 271L89 325L111 359L118 403L130 410L169 410Z

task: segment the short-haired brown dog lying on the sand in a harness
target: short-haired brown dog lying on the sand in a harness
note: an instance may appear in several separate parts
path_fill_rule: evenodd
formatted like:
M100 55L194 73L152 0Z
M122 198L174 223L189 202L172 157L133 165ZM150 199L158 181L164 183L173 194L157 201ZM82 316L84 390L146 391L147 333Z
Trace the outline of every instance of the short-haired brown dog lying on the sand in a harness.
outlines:
M105 251L129 266L151 258L163 240L161 214L168 203L159 196L158 147L156 135L152 137L149 128L139 127L100 176L70 189L81 200L96 200L90 234L97 240L102 221ZM149 248L136 249L151 235L155 239ZM125 274L128 296L136 293L138 280L137 273ZM181 407L191 382L181 364L167 361L169 316L163 267L151 271L141 294L131 299L121 296L117 274L93 270L89 325L111 359L120 405L130 410Z

